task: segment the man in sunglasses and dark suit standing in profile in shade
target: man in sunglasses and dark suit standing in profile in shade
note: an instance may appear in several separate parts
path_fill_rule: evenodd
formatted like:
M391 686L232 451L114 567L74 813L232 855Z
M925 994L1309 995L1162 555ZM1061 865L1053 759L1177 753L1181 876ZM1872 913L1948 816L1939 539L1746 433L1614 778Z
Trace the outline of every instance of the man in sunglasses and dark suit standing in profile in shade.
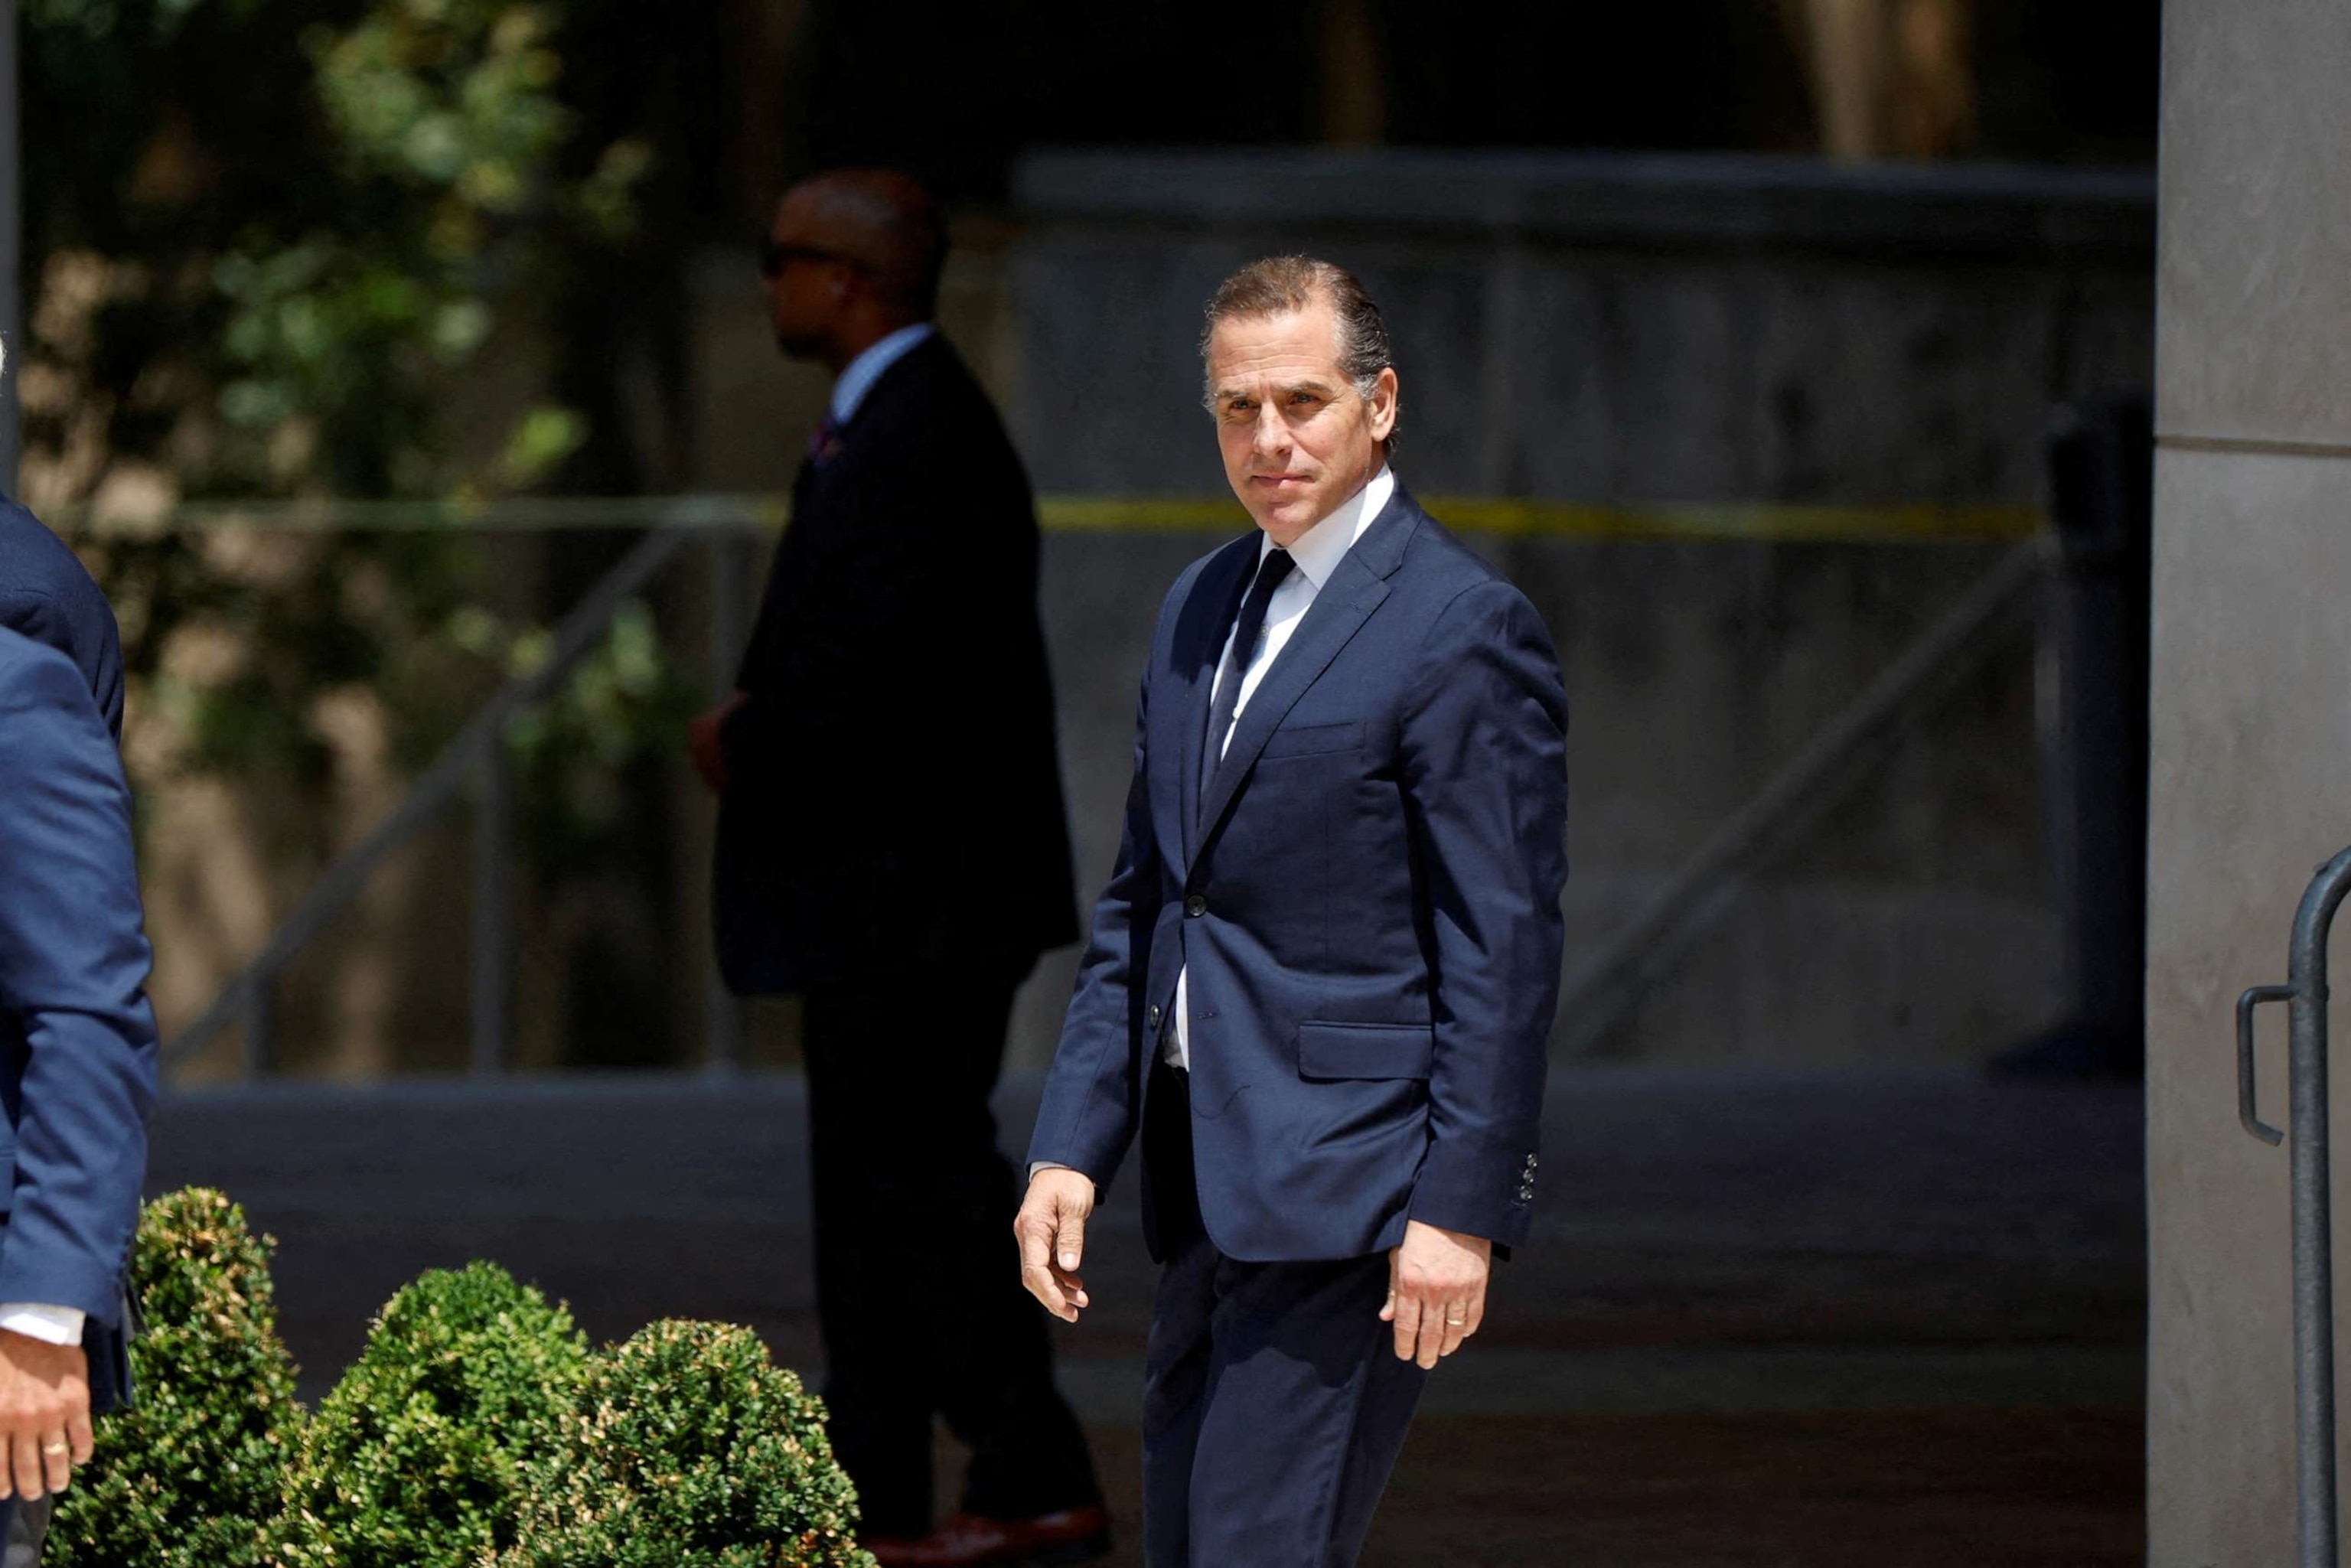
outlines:
M719 966L799 992L832 1443L884 1568L1107 1549L1037 1314L990 1093L1013 990L1077 940L1037 515L987 395L931 324L945 230L886 172L811 179L762 268L776 341L832 371L736 696ZM931 1418L971 1446L931 1528Z

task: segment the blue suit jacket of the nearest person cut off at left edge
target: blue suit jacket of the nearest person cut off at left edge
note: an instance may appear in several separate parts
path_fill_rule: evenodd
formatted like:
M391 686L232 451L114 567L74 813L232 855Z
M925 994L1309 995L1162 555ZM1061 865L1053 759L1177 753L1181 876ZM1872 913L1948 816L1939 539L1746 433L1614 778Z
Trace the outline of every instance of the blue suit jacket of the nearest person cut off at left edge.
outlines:
M80 1307L92 1401L127 1392L125 1269L155 1105L132 802L59 651L0 630L0 1300Z

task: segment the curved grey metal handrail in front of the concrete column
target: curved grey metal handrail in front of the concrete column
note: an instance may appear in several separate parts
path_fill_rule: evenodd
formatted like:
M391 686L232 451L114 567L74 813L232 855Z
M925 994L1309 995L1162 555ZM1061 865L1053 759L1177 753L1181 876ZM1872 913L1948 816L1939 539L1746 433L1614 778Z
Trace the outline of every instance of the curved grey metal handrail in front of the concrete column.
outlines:
M2351 893L2351 849L2318 867L2285 959L2285 985L2236 999L2236 1117L2276 1145L2257 1114L2252 1013L2288 1004L2288 1117L2295 1187L2295 1497L2302 1568L2335 1568L2335 1215L2327 1190L2327 933Z

